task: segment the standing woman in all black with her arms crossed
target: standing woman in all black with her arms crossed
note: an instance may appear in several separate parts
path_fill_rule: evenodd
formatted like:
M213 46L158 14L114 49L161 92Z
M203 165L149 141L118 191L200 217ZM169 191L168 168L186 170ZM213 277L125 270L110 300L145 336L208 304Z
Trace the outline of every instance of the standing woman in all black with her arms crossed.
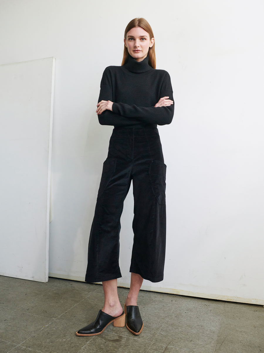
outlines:
M156 69L155 40L149 23L128 23L121 66L103 72L96 113L101 125L113 125L108 156L95 207L88 246L86 282L101 282L105 304L96 320L78 336L99 335L113 322L135 335L143 329L137 298L143 279L163 280L166 209L165 173L158 125L170 124L173 97L169 74ZM117 279L123 202L133 182L134 242L130 291L122 310Z

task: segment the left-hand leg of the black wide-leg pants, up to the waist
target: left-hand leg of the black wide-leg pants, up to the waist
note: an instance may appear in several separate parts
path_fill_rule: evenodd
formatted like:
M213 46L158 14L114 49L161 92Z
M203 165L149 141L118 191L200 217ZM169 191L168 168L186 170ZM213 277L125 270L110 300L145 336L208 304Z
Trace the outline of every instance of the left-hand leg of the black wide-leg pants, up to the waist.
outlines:
M119 268L120 217L131 184L132 160L127 158L127 138L110 139L95 206L88 245L85 281L108 281L121 277Z

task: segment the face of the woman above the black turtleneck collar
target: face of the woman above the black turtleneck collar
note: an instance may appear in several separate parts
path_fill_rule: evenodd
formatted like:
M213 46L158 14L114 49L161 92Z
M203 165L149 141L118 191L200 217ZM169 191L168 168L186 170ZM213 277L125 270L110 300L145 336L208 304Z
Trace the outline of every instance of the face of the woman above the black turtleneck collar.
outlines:
M149 48L154 44L154 38L141 27L134 27L127 32L125 46L132 58L142 61L146 58Z

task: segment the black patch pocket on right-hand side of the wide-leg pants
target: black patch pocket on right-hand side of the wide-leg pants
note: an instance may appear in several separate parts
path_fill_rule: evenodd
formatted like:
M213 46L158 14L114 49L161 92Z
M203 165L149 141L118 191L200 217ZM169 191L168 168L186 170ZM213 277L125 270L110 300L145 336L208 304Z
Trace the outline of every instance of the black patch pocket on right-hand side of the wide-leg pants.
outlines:
M163 205L166 203L166 164L160 161L151 161L149 167L149 178L153 194L158 203Z

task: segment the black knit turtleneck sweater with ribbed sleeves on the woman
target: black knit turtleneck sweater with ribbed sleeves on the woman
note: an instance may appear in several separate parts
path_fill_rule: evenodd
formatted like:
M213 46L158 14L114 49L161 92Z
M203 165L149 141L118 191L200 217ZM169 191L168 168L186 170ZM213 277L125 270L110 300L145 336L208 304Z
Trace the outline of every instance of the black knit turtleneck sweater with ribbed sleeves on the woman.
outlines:
M170 76L164 70L149 65L149 57L136 61L129 55L123 66L108 66L103 72L100 101L111 101L113 112L105 110L98 115L101 125L145 126L170 124L174 104L154 107L160 98L173 101Z

